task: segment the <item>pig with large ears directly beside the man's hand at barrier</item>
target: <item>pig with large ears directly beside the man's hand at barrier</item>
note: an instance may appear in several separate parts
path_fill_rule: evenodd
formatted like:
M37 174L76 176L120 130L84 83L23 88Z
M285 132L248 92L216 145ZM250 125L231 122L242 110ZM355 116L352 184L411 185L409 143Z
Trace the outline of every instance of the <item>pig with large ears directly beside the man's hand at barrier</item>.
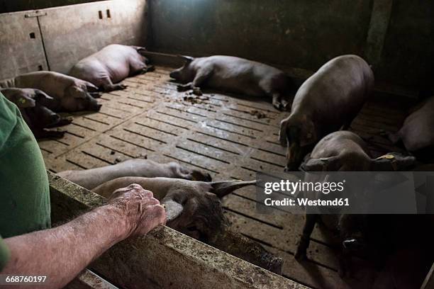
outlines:
M91 191L109 198L118 188L138 183L165 205L167 224L195 239L209 239L224 223L220 198L255 181L189 181L170 178L126 176L108 181Z

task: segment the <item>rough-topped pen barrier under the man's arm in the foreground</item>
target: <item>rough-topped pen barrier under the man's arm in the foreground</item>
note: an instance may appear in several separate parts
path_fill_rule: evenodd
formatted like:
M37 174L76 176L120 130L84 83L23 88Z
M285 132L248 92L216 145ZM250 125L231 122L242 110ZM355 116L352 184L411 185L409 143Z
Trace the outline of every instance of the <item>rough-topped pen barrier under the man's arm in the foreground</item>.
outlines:
M48 172L53 224L105 199ZM122 288L306 288L169 227L126 239L89 266Z

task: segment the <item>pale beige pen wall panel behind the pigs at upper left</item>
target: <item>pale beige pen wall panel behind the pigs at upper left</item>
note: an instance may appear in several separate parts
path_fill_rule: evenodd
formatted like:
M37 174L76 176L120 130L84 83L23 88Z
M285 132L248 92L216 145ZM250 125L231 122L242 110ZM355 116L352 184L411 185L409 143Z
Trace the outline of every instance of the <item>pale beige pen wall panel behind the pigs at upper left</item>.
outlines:
M67 73L111 43L144 45L146 3L112 0L0 14L0 79L42 69Z

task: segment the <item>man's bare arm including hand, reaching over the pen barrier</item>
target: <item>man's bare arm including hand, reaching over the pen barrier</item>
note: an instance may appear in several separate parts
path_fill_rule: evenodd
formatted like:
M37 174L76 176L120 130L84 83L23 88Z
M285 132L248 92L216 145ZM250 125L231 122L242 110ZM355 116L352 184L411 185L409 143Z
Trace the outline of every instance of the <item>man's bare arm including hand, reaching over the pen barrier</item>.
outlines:
M11 259L1 274L47 276L41 286L61 288L113 244L161 224L165 210L150 191L121 188L108 205L65 225L5 239Z

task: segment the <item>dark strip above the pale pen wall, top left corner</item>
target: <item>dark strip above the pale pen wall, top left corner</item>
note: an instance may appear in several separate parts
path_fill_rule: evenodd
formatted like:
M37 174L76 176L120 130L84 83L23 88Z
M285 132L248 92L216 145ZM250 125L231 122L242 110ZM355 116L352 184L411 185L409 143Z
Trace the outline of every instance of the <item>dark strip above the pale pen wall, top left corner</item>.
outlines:
M0 0L0 13L35 10L56 6L82 4L101 0Z

